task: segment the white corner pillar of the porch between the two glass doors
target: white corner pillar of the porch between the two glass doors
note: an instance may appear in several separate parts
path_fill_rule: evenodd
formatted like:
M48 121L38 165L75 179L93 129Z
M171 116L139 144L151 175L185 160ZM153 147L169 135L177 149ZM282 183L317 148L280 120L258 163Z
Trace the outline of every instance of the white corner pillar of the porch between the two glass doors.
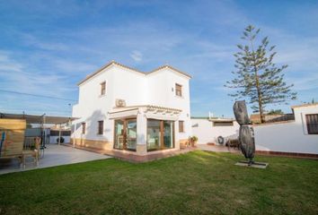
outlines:
M146 116L142 110L137 115L137 154L146 155Z

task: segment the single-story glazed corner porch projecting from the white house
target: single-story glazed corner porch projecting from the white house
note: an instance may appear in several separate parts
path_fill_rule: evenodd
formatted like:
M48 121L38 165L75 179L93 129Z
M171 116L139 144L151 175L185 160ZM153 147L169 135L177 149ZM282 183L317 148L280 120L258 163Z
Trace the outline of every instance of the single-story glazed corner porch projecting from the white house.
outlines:
M113 150L137 156L179 150L180 109L157 106L120 107L109 112L114 121Z

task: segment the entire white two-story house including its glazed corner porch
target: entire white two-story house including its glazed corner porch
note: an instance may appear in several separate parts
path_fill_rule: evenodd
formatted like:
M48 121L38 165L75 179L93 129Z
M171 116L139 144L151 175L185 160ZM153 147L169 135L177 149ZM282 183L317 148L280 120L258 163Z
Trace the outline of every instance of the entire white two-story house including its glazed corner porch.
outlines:
M72 142L137 156L179 150L191 135L190 78L169 65L102 66L78 83Z

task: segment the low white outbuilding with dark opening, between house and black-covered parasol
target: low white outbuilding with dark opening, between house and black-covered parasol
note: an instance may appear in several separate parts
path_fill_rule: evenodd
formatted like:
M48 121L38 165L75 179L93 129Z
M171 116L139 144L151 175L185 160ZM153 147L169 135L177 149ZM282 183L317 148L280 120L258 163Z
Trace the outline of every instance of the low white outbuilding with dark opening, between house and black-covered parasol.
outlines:
M191 117L192 133L199 139L199 144L219 144L221 136L226 142L229 139L237 139L240 125L232 118L220 117ZM225 144L223 142L222 144Z

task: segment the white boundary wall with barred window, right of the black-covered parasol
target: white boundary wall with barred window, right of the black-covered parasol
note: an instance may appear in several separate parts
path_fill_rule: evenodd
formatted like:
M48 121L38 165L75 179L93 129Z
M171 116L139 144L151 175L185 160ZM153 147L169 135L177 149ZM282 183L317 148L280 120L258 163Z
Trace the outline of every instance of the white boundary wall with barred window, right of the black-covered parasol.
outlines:
M295 121L254 126L256 150L318 154L318 134L308 134L306 114L318 114L318 105L294 108Z

